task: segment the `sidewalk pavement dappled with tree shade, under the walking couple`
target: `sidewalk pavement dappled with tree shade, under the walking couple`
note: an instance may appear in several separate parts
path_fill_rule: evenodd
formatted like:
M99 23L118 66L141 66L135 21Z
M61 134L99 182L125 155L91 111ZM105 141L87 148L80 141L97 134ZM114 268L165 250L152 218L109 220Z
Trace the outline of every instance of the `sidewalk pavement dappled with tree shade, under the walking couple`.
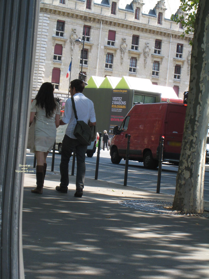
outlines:
M173 196L85 179L75 198L55 191L47 170L43 194L24 175L23 255L27 279L209 278L209 218L155 214L120 201L173 201ZM205 203L209 208L209 204Z

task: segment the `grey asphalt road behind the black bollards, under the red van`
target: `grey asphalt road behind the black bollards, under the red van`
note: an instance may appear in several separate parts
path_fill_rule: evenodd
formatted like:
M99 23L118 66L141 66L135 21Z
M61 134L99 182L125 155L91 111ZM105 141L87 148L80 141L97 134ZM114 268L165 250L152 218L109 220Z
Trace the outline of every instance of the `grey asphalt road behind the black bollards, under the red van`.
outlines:
M54 160L54 171L59 172L59 163L61 155L56 151ZM34 154L29 153L27 150L26 164L33 167ZM95 177L95 166L96 166L97 153L94 153L92 158L86 157L86 177L94 179ZM47 158L47 170L50 170L52 160L52 153ZM71 173L72 160L69 163L69 173ZM206 170L209 165L206 165ZM100 152L99 160L99 172L98 179L108 182L114 182L118 184L124 184L124 169L125 161L122 160L119 165L111 163L110 154L107 150ZM178 167L171 165L162 166L162 176L160 193L174 195L176 187L176 174ZM76 168L75 173L76 175ZM137 188L143 188L148 191L156 193L158 170L147 170L144 168L143 163L129 161L128 166L128 186L135 186ZM209 172L205 172L204 180L204 200L209 201Z

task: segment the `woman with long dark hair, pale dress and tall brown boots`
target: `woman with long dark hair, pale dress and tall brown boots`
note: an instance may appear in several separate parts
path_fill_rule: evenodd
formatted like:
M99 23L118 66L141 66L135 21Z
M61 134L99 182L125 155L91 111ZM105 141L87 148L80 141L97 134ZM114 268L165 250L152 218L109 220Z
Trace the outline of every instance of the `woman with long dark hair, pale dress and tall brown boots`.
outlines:
M60 107L54 100L54 87L50 82L44 82L31 104L30 124L36 115L34 147L30 152L36 154L36 184L32 193L42 194L46 174L46 157L51 151L56 138L56 128L59 127Z

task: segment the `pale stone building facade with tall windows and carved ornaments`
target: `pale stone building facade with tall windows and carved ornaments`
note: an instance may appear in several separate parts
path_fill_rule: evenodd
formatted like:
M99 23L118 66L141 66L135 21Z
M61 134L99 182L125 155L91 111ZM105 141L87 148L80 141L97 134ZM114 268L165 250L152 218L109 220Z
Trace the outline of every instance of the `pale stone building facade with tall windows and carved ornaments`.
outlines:
M91 76L146 78L174 86L183 98L189 86L193 35L181 37L183 26L165 18L166 1L156 0L148 13L143 12L144 2L41 0L33 97L43 82L50 81L56 96L66 98L70 61L72 80L79 77L83 55L86 81ZM84 54L77 38L85 39Z

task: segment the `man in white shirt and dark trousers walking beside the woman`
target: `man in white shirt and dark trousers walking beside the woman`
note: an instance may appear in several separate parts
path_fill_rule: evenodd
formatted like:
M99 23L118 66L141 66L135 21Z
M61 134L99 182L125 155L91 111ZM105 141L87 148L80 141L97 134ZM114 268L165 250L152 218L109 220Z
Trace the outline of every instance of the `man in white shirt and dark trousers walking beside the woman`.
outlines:
M75 100L76 112L78 120L83 120L85 123L89 122L89 126L96 125L96 117L94 112L94 104L91 100L85 97L82 92L85 84L80 79L74 79L70 82L70 94ZM60 120L59 125L65 125L68 123L65 135L62 141L62 154L60 162L60 186L56 186L56 190L61 193L67 193L67 186L69 184L68 177L68 164L72 151L76 149L76 193L75 197L82 197L84 180L85 180L85 153L87 146L82 145L78 139L73 135L73 131L76 126L76 118L72 108L71 98L67 99L65 103L64 115Z

